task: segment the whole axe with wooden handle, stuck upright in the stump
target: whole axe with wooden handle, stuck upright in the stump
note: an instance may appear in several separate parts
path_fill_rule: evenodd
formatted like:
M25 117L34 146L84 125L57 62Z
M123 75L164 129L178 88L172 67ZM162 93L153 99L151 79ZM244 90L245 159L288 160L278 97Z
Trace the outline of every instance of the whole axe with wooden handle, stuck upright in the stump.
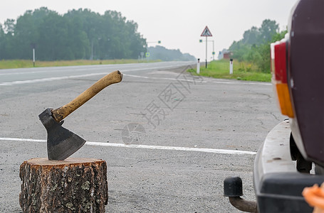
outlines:
M122 73L120 71L111 72L98 80L98 82L95 82L95 84L70 103L58 109L45 109L45 111L38 115L47 131L48 160L64 160L85 144L83 138L62 127L63 119L75 111L75 109L78 109L82 104L88 102L89 99L105 87L121 81Z

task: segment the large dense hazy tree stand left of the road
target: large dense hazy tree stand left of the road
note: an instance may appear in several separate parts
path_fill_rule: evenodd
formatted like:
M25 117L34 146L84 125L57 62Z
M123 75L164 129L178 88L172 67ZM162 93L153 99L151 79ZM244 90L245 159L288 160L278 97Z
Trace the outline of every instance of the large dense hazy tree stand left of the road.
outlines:
M36 60L138 58L146 46L137 23L117 11L100 15L78 9L60 15L42 7L0 25L0 60L31 59L32 47Z

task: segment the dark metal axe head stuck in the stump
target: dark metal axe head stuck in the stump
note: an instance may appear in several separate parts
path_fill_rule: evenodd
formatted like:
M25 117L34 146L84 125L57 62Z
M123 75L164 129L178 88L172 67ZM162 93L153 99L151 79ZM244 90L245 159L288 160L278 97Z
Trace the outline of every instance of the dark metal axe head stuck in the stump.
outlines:
M50 108L38 115L47 131L48 160L65 160L85 144L85 140L62 127L63 121L53 119Z

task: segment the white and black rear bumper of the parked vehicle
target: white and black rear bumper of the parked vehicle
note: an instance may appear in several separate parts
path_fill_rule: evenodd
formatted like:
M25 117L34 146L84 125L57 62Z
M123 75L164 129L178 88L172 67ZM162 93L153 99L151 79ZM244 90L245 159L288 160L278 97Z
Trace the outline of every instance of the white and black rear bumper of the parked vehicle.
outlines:
M324 175L299 173L291 160L289 121L275 126L259 149L254 162L254 190L258 212L313 212L301 192L320 185Z

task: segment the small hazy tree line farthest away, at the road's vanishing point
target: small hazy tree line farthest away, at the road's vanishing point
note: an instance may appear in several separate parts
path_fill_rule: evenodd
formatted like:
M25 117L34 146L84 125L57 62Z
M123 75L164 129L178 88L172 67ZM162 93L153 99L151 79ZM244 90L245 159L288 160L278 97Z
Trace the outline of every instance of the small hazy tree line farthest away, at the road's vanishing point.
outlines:
M160 45L150 47L148 48L148 51L150 52L151 60L196 60L196 58L189 53L181 53L180 50L169 50Z

